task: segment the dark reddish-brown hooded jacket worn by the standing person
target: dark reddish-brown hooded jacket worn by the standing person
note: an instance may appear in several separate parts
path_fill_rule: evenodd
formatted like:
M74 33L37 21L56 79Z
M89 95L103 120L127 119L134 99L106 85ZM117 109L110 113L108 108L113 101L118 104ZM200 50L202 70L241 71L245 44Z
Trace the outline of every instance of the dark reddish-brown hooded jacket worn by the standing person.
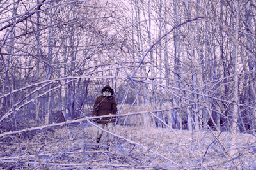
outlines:
M101 90L101 93L103 94L106 89L109 89L109 92L111 92L111 96L100 95L99 97L97 97L93 106L93 116L102 116L117 113L116 100L115 97L112 96L114 91L109 85L106 85ZM97 118L95 122L99 124L107 124L109 122L115 122L115 120L115 117L105 117Z

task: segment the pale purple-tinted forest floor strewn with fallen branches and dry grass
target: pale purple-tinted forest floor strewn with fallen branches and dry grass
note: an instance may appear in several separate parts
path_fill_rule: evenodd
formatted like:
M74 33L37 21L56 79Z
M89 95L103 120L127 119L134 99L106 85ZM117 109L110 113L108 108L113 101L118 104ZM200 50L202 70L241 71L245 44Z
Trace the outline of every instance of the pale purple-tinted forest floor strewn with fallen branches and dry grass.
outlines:
M120 138L109 147L104 132L99 148L94 126L27 133L0 145L0 169L256 169L250 134L239 134L230 157L230 132L116 126Z

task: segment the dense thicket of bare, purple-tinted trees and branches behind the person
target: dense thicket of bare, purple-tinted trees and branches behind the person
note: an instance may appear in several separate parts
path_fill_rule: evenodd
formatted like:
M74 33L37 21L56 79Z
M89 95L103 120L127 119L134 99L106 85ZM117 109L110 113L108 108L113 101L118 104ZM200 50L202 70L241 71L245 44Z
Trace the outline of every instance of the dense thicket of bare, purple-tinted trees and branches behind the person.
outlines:
M1 138L58 111L90 117L106 84L118 114L141 113L120 124L230 131L233 147L237 132L255 134L253 0L3 0L0 11Z

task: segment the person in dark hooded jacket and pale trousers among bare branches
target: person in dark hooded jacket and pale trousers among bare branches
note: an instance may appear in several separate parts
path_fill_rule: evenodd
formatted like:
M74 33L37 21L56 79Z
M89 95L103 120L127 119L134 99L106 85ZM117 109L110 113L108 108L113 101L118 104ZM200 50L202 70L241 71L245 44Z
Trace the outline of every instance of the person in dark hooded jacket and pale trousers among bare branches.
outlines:
M93 116L103 116L103 115L115 115L117 114L117 107L116 107L116 100L115 97L113 97L114 91L109 86L106 85L101 90L101 95L97 97L94 106L93 106ZM94 120L94 122L97 123L97 125L104 129L106 127L106 130L109 132L113 132L113 124L116 120L116 117L104 117L104 118L97 118ZM97 136L96 136L96 142L99 143L100 138L102 137L103 131L102 129L98 128ZM111 134L107 134L107 144L110 145L112 139Z

